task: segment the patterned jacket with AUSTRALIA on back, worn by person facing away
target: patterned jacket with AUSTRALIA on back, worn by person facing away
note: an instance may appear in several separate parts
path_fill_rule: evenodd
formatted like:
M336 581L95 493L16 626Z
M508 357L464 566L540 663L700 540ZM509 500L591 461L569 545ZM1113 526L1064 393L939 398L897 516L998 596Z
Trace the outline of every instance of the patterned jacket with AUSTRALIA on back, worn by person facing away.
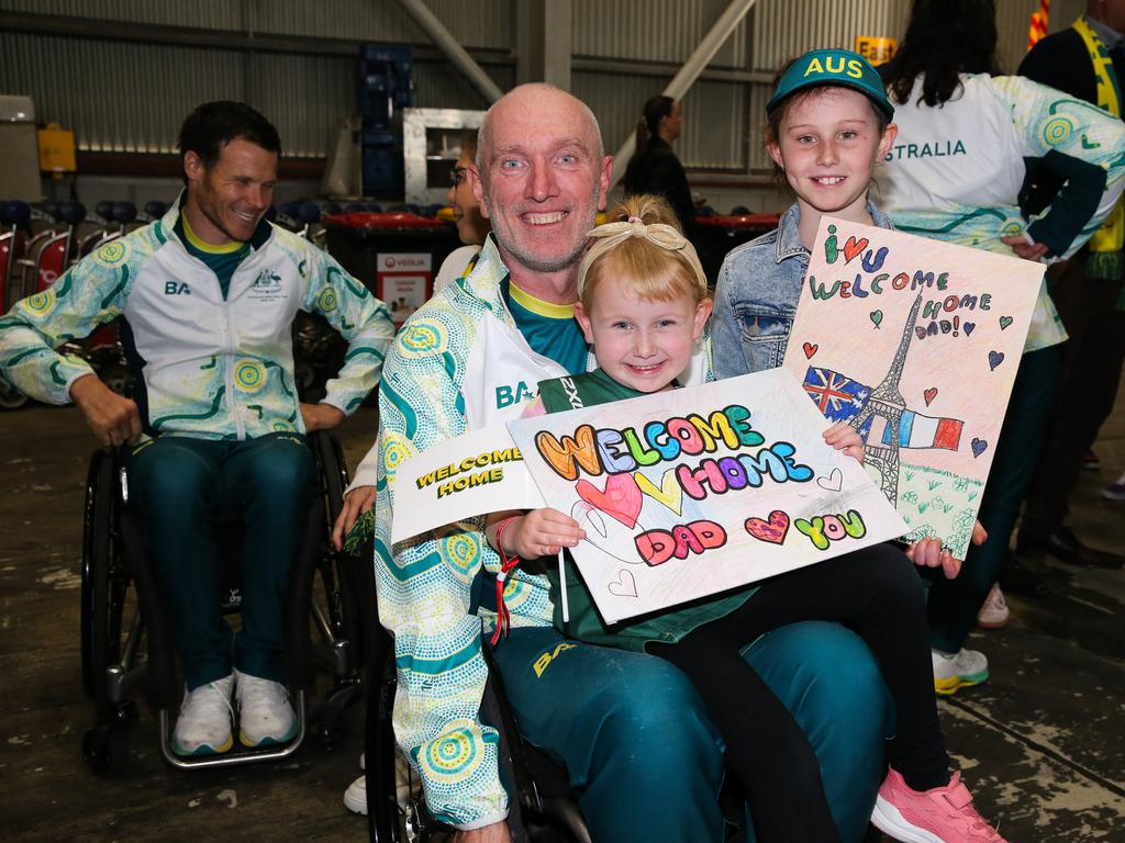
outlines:
M939 108L918 105L919 78L894 111L899 135L875 193L899 230L1011 255L1001 236L1025 233L1070 257L1125 189L1125 127L1082 102L1020 76L966 74L963 92ZM1063 183L1028 219L1019 207L1028 163ZM1045 284L1025 351L1066 338Z

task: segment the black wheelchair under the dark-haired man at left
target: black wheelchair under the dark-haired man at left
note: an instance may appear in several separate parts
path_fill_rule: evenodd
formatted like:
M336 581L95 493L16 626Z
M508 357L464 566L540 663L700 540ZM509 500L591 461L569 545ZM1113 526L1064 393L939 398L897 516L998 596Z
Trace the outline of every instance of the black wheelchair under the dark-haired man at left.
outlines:
M170 623L145 558L141 518L136 507L129 506L123 454L118 448L93 453L83 508L81 653L83 688L96 714L94 724L82 737L82 758L94 774L115 776L127 761L128 733L137 717L132 695L138 686L158 713L161 754L180 769L287 758L302 746L313 719L326 749L346 736L344 709L361 692L360 604L341 568L343 558L334 552L328 536L349 482L348 469L340 443L326 432L309 434L308 444L318 488L285 608L288 685L299 724L297 735L281 746L236 746L223 755L190 758L172 752L172 724L183 688L177 678ZM214 523L223 556L224 615L236 613L241 601L241 528L237 514L218 516ZM318 632L315 647L310 618ZM144 655L142 642L146 644ZM323 701L309 710L307 699L317 663L327 668L332 686Z

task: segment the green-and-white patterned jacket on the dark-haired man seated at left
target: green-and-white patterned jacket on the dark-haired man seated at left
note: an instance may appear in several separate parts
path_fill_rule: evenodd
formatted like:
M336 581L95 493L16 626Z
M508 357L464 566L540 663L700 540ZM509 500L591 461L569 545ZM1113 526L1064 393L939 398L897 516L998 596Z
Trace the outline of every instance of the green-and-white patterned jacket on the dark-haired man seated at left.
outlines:
M42 401L65 404L90 366L57 346L124 316L146 433L206 439L304 432L290 325L323 315L349 342L325 402L354 410L379 380L394 326L387 308L326 253L262 221L253 252L218 279L160 220L107 243L0 319L0 372Z

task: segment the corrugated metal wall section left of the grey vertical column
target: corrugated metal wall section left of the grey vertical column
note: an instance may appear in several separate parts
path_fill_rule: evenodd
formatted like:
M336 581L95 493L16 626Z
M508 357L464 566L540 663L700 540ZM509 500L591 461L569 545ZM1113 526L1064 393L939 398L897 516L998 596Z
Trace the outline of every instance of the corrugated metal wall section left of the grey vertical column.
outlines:
M430 0L462 44L511 48L514 0ZM0 10L94 18L122 25L428 43L394 0L0 0ZM514 67L486 67L511 88ZM484 108L447 62L415 65L417 105ZM322 156L336 118L356 108L356 60L0 33L0 91L29 94L40 120L75 132L79 148L170 152L184 115L209 99L244 100L281 133L286 154Z

